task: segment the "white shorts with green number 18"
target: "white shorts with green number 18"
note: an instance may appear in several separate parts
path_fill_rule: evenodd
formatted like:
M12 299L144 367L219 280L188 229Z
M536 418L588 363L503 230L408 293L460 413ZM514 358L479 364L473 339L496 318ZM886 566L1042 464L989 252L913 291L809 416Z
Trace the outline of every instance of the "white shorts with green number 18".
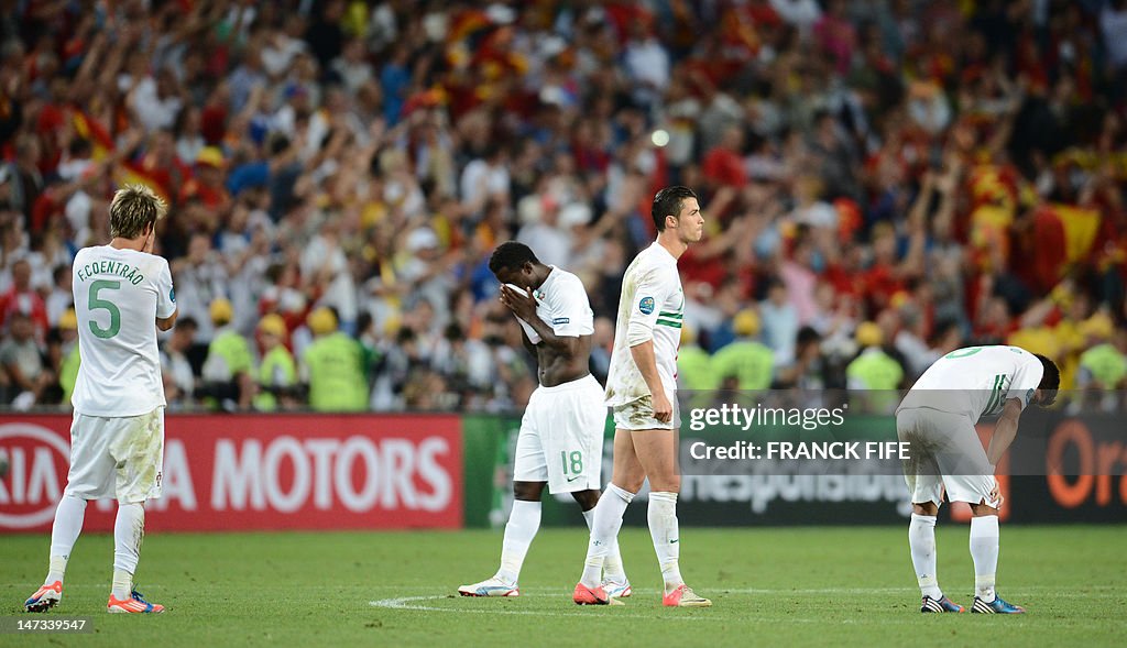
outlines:
M547 481L551 494L601 489L605 426L603 388L594 376L538 387L521 419L513 480Z

